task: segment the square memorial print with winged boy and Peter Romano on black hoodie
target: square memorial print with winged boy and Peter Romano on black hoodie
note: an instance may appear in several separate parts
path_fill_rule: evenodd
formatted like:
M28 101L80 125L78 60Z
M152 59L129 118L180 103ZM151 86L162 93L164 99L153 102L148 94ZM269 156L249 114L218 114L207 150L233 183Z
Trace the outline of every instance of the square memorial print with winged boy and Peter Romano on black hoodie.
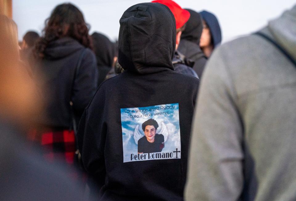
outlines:
M179 104L121 109L123 162L180 159Z

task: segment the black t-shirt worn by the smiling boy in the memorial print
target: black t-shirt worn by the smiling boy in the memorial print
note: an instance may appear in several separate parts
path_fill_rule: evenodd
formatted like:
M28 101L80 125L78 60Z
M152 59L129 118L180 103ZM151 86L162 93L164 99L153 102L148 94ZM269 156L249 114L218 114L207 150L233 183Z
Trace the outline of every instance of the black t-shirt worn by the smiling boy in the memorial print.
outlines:
M155 134L154 142L148 142L146 136L141 137L138 140L138 153L154 153L161 152L164 144L164 137L162 134Z

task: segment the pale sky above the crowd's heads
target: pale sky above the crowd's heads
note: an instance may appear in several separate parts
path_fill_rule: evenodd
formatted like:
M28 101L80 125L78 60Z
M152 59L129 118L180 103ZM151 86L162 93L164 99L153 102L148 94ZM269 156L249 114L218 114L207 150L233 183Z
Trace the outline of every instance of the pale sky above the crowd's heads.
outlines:
M97 31L111 40L118 38L119 19L130 6L147 2L140 0L13 0L13 19L19 28L19 39L28 30L41 33L44 21L54 7L63 2L71 2L84 13L91 25L90 34ZM208 10L216 15L222 30L222 42L240 35L252 33L268 20L278 17L284 10L292 8L295 0L176 0L183 8L197 12Z

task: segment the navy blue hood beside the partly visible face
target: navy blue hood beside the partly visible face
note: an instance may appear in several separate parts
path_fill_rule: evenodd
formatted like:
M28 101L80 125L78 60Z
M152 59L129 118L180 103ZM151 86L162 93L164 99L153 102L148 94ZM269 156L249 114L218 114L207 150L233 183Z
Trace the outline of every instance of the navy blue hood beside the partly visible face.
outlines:
M217 45L221 43L222 40L221 29L218 19L214 14L206 10L201 11L199 14L201 14L203 20L207 23L210 29L212 44L215 48Z

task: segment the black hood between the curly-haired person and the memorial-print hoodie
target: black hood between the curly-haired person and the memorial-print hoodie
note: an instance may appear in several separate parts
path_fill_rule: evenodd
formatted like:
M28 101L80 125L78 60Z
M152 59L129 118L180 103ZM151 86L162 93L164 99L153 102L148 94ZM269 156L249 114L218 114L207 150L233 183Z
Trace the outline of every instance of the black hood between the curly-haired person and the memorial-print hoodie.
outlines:
M105 35L96 32L92 34L92 42L97 58L98 84L100 85L112 68L113 58L116 56L115 45Z

